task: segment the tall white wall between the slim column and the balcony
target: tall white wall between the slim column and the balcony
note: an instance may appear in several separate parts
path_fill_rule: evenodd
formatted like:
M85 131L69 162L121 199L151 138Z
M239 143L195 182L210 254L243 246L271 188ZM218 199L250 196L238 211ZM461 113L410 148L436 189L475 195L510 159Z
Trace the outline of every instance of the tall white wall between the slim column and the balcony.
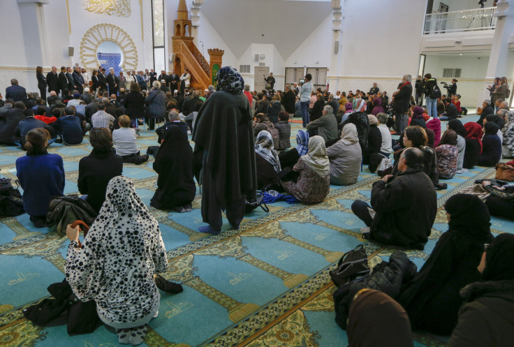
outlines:
M409 1L408 6L403 0L369 1L363 11L362 1L346 0L339 50L342 66L339 75L328 73L331 91L368 91L377 82L382 91L392 94L403 75L417 75L425 10L425 1ZM331 38L332 31L318 36L329 42L328 54L333 54Z

